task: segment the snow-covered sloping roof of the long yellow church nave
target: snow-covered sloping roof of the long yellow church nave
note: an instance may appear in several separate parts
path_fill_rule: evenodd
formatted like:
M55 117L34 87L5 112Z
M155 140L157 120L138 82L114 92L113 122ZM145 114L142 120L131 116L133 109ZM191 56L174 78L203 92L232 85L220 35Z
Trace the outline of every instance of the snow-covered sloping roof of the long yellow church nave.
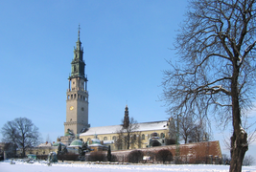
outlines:
M165 130L168 128L167 120L138 123L138 126L139 128L136 130L137 132ZM86 132L81 133L80 136L91 136L94 134L97 134L97 135L115 134L121 129L122 129L122 125L91 127Z

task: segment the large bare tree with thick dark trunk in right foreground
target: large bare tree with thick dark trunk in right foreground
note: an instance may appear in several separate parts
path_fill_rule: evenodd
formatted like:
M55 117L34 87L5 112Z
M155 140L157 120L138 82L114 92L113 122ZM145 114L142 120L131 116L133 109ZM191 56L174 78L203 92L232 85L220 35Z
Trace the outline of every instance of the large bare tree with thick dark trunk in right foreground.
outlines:
M242 116L255 89L255 0L192 0L176 36L180 63L165 71L171 113L217 114L232 122L230 171L241 171L248 149Z

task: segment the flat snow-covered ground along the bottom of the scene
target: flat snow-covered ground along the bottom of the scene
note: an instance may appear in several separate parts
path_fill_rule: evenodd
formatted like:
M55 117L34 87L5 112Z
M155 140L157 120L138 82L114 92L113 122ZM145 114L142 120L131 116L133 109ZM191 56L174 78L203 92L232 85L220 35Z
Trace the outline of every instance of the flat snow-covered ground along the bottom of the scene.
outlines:
M163 164L86 164L86 163L53 163L48 166L45 162L27 163L23 161L1 161L1 172L139 172L139 171L168 171L168 172L227 172L228 165L163 165ZM243 172L256 172L256 166L243 166Z

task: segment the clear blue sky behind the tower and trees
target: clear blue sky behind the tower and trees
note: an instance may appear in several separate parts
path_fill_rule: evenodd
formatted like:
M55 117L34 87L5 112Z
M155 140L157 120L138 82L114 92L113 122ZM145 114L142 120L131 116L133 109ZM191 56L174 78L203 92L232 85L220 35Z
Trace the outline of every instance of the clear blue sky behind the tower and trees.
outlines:
M158 98L162 71L169 68L166 60L177 58L170 49L187 5L186 0L0 1L0 127L26 117L43 140L63 136L79 24L91 126L120 124L126 104L138 122L169 118ZM224 152L221 131L214 133ZM248 154L256 155L255 147Z

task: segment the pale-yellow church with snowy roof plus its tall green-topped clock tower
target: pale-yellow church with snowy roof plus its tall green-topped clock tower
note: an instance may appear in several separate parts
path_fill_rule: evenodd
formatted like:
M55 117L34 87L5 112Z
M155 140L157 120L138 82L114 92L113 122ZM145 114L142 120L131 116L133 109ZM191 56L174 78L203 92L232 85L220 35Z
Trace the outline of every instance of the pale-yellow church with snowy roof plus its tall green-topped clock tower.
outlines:
M84 71L85 63L79 30L74 58L71 62L71 75L68 77L64 136L60 137L60 141L69 146L76 138L87 141L89 144L91 140L97 138L101 140L103 146L110 145L112 150L125 149L125 143L117 145L123 125L90 127L88 123L88 79ZM128 118L128 105L126 105L124 121L128 121ZM130 149L166 145L167 140L175 140L175 121L169 118L168 120L137 123L136 129L130 132L130 137L132 140L137 140L131 143Z

